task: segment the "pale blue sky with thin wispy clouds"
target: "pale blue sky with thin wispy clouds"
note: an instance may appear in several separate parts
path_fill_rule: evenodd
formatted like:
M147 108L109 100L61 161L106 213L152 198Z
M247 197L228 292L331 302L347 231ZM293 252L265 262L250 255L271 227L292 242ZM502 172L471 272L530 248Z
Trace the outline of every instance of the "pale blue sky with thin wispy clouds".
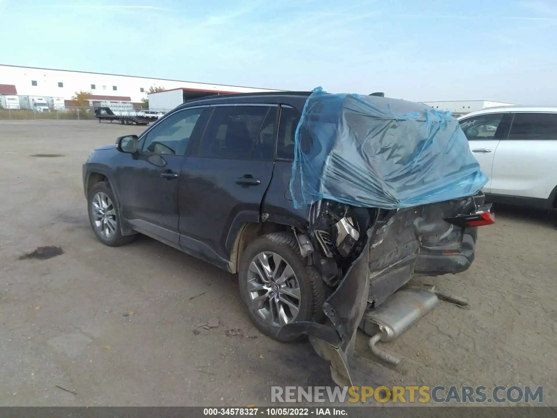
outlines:
M557 104L557 0L0 0L0 17L0 64Z

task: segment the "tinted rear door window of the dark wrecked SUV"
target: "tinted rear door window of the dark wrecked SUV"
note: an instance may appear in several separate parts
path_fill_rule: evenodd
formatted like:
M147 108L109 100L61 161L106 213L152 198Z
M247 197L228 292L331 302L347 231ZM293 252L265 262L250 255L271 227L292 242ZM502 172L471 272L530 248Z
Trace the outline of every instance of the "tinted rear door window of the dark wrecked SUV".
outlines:
M199 146L198 156L272 160L276 106L217 106Z

